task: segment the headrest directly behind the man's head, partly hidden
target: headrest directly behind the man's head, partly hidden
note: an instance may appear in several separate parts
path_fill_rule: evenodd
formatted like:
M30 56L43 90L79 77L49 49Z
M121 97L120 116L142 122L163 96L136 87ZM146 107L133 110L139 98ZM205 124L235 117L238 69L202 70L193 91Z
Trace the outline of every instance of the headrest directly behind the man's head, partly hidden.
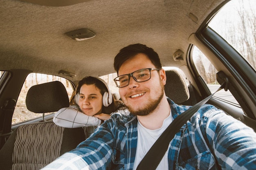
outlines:
M176 104L189 99L189 88L182 75L177 70L166 70L165 94Z

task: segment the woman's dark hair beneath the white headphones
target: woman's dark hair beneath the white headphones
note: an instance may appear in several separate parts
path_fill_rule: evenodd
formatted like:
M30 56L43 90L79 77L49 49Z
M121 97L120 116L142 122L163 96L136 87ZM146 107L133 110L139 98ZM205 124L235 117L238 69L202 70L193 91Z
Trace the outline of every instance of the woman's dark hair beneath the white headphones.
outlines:
M100 93L102 96L105 92L108 92L106 85L102 81L100 81L98 78L95 78L92 76L86 76L81 81L78 82L76 91L75 93L72 94L72 97L70 98L70 105L76 105L76 102L74 101L74 97L77 93L80 92L82 85L95 85L100 90ZM109 94L109 95L112 95L112 94ZM102 105L102 113L110 114L112 112L117 111L121 106L124 106L122 102L119 100L115 100L113 98L112 103L108 107L105 107Z

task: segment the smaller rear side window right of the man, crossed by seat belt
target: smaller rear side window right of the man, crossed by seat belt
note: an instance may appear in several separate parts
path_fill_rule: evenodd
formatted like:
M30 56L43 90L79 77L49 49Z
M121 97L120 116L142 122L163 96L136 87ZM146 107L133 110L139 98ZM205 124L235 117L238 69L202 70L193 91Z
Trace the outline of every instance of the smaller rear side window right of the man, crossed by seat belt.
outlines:
M216 92L216 90L220 87L220 84L216 80L216 73L218 71L196 46L193 48L193 61L195 63L196 69L198 70L198 73L207 84L207 87L211 93ZM225 102L231 102L232 104L239 105L229 90L227 92L221 90L220 92L214 94L214 96L224 100Z

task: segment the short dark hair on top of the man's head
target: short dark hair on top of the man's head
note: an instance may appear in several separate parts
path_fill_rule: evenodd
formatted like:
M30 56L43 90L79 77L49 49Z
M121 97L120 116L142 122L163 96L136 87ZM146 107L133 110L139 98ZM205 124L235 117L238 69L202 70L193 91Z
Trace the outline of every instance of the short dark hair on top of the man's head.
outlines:
M148 59L155 65L156 68L162 68L158 54L153 50L143 44L131 44L122 48L119 53L116 55L114 60L114 68L119 71L121 65L128 59L134 57L136 54L143 53L148 56Z

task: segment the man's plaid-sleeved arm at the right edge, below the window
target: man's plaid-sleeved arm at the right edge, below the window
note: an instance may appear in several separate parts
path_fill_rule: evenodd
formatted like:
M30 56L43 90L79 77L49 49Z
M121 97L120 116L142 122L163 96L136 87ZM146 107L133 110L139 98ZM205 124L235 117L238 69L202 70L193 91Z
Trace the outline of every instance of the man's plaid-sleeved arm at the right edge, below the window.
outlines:
M256 169L256 133L218 110L207 120L206 133L222 169Z

